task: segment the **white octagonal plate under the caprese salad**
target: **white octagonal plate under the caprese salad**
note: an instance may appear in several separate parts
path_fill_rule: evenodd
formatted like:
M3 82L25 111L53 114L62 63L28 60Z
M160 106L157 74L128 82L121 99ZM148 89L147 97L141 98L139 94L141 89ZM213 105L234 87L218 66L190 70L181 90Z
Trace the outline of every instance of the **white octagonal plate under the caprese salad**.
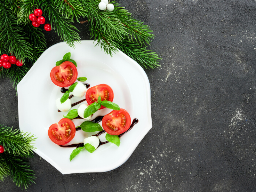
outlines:
M111 58L100 50L99 46L94 46L92 40L76 44L75 49L68 47L64 42L51 46L38 58L17 87L20 130L31 132L37 137L35 152L62 174L106 172L119 167L131 156L152 128L150 85L144 70L123 52L113 54ZM87 77L85 83L91 86L97 84L111 86L114 91L113 102L126 109L131 119L139 119L139 123L120 138L119 147L107 143L93 153L82 150L71 162L69 156L75 148L61 148L48 137L50 125L57 123L68 113L57 112L55 100L63 93L50 79L50 71L56 61L61 60L67 52L71 52L71 59L77 63L78 77ZM71 102L84 98L85 96L74 97ZM102 109L96 112L92 119L98 115L106 115L110 111L111 109ZM76 126L83 122L81 119L72 121ZM95 133L77 131L75 138L68 144L83 142L84 138ZM100 136L100 140L104 141L104 139L104 135Z

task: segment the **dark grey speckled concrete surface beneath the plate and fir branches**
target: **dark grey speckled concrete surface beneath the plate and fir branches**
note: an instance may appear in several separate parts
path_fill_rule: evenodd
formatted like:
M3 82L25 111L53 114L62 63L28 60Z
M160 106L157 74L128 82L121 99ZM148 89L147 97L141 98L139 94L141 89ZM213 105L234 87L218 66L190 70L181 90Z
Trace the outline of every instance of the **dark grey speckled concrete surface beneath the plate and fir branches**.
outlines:
M154 30L162 67L146 70L153 128L132 156L104 173L62 175L30 160L28 191L256 191L256 1L121 0ZM82 40L86 24L76 24ZM45 32L48 47L60 42ZM0 81L0 123L18 127L18 101ZM68 166L68 165L67 165ZM0 191L20 191L10 178Z

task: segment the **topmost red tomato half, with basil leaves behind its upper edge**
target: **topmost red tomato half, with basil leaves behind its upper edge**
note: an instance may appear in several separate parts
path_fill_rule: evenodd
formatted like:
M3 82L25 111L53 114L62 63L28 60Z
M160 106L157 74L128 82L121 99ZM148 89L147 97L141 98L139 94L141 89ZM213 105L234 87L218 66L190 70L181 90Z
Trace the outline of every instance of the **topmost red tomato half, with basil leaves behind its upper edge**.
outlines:
M52 83L59 87L68 87L75 83L77 78L76 66L70 61L64 61L51 70Z

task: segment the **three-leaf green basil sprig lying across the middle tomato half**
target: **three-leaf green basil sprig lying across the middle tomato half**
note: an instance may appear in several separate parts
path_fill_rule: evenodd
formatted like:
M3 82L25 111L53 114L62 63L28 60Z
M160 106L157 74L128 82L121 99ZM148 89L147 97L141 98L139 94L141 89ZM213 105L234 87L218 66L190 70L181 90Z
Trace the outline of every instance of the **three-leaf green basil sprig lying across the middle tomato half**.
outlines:
M92 103L84 110L84 118L89 117L90 115L98 111L101 105L109 109L113 109L117 111L120 110L120 107L116 103L113 103L111 101L101 101L101 98L99 96L97 103L96 102Z

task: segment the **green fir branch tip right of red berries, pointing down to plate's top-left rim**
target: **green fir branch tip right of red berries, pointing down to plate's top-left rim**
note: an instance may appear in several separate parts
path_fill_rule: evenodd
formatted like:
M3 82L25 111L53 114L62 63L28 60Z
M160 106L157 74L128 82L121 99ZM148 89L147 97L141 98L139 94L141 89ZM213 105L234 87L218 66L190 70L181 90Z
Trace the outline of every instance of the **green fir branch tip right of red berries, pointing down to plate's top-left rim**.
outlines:
M51 0L42 0L42 7L44 8L42 11L44 14L48 15L50 24L55 32L58 33L60 39L74 48L74 43L80 41L77 28L70 24L71 21L66 19L65 16L57 10Z

